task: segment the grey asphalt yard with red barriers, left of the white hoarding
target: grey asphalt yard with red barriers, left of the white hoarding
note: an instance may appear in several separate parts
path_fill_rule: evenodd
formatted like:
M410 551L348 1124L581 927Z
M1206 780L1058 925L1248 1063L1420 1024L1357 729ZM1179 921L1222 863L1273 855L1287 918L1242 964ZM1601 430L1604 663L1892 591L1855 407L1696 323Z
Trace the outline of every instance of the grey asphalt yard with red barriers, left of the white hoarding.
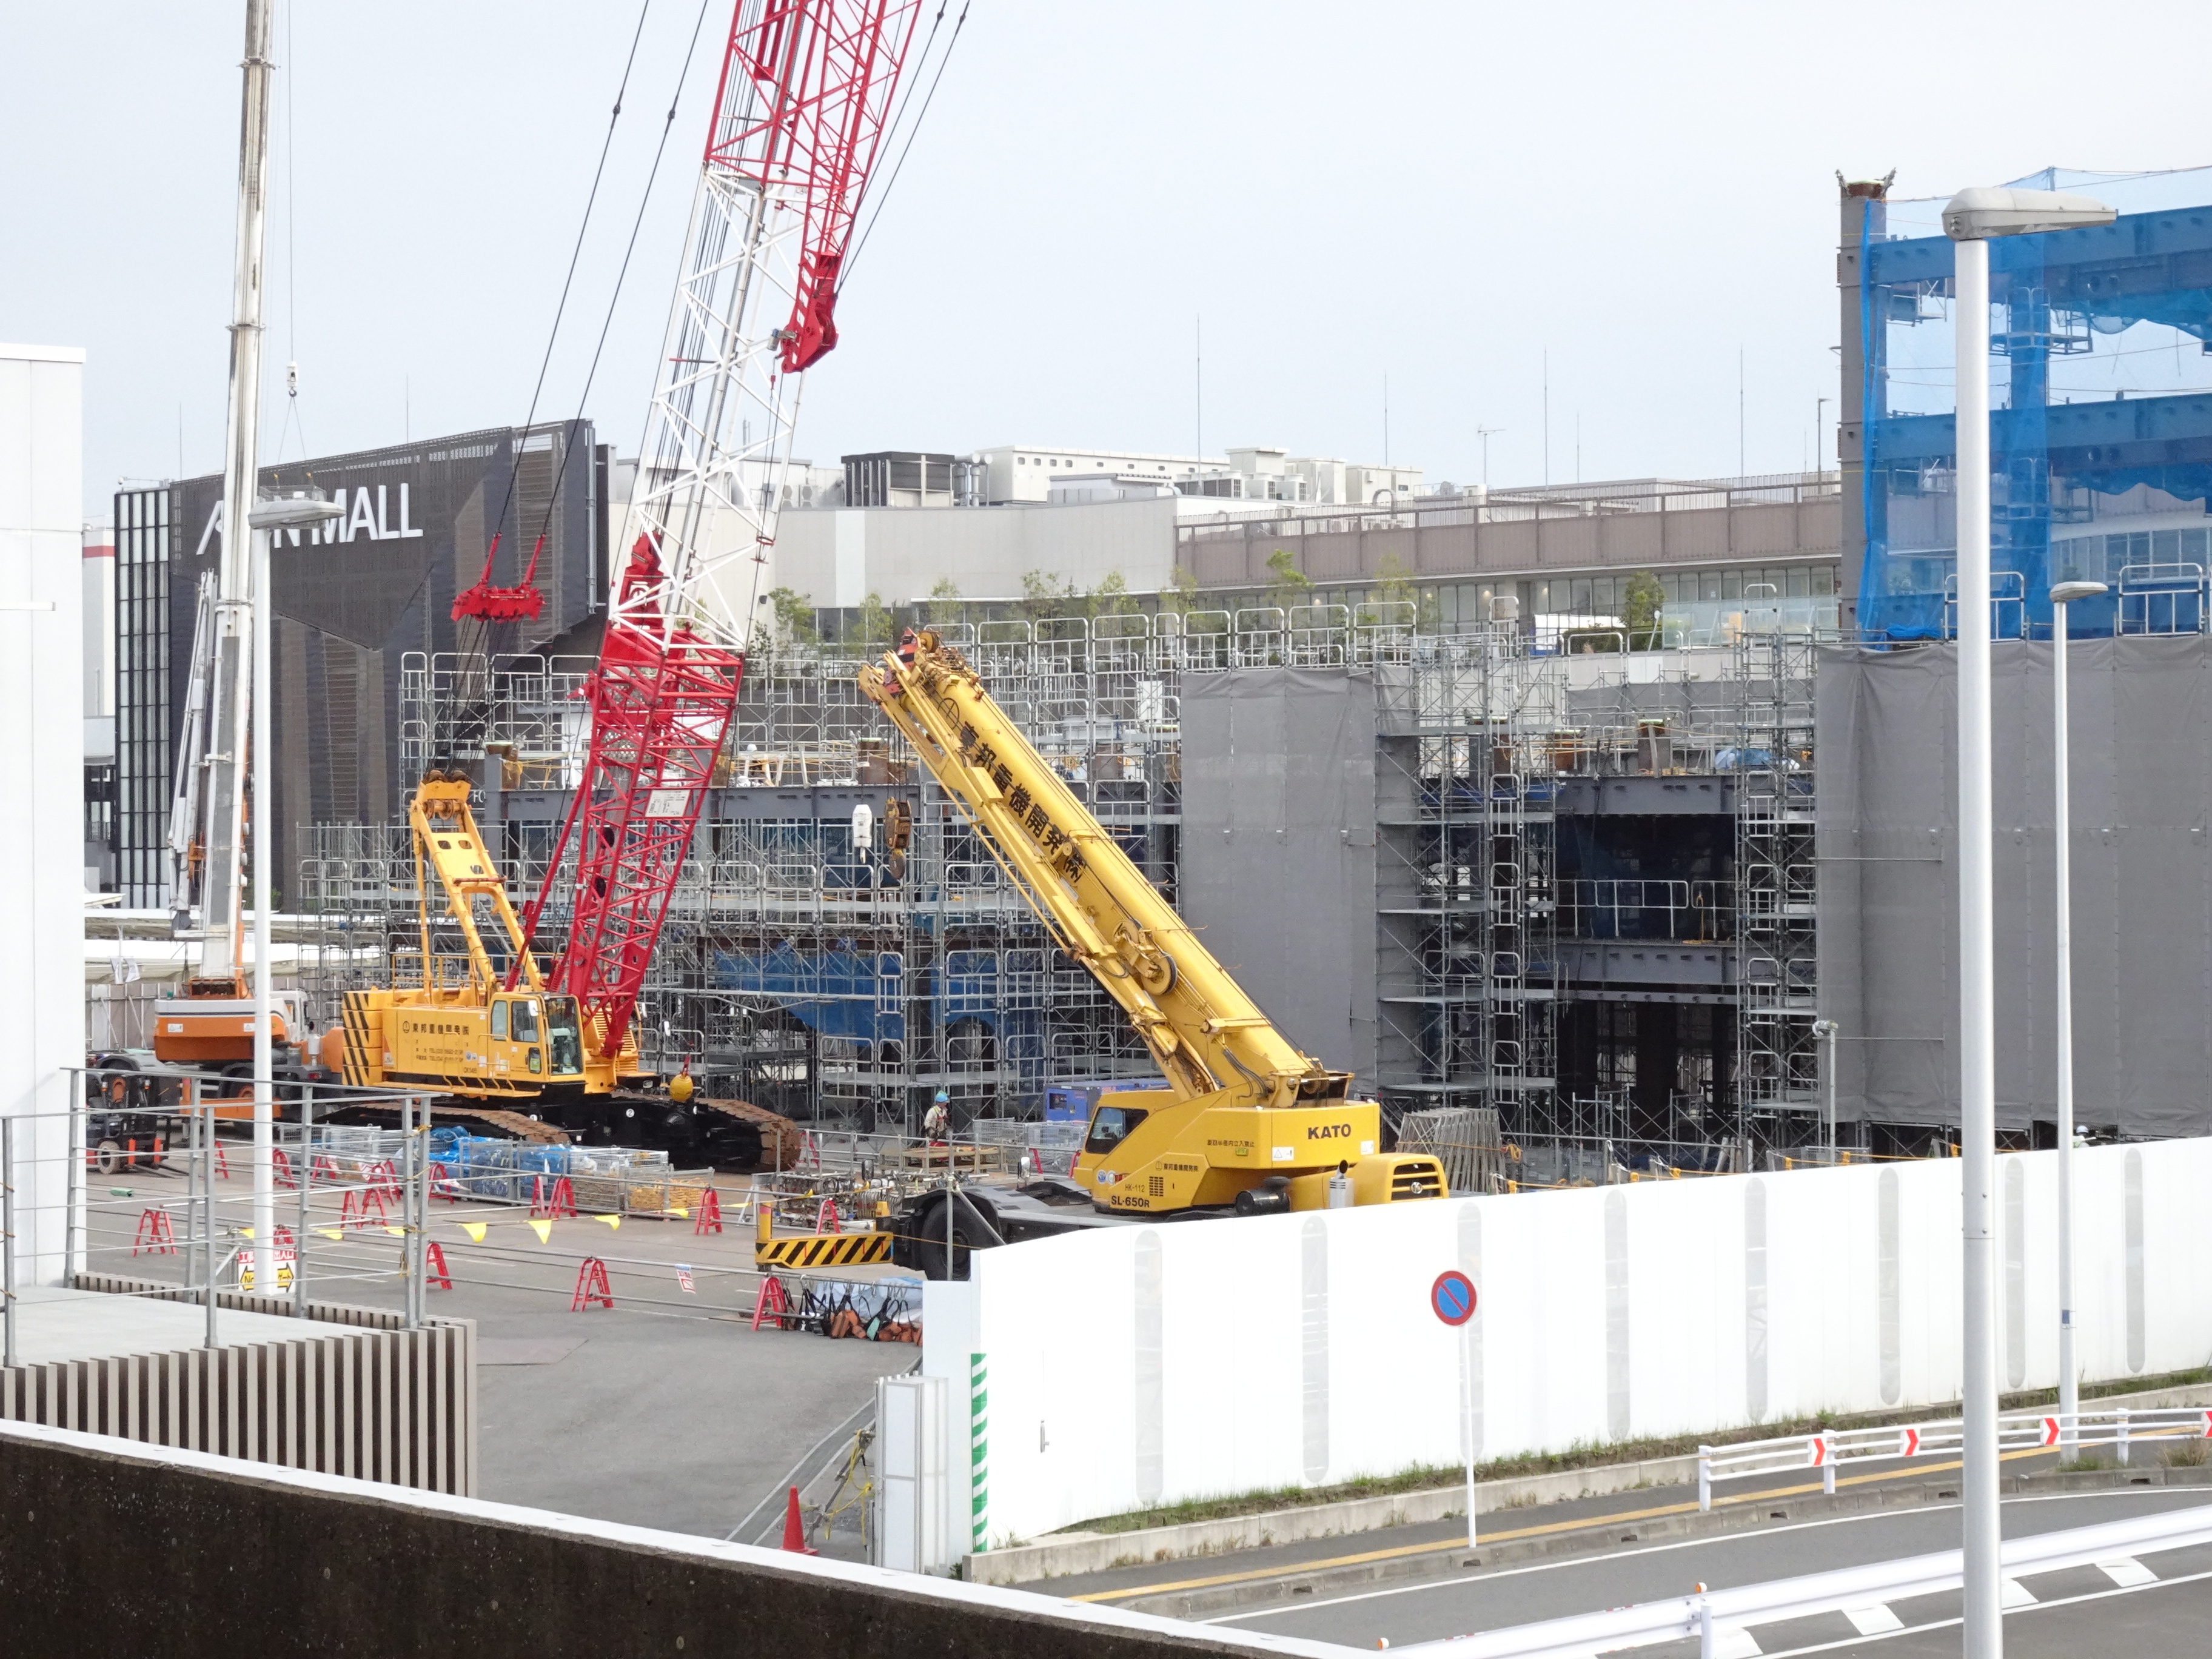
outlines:
M239 1179L217 1188L226 1225L250 1219L243 1164L232 1168ZM142 1208L181 1197L166 1172L95 1177L93 1267L179 1279L181 1256L133 1256L131 1239ZM299 1194L276 1197L290 1225ZM338 1203L316 1192L312 1223L334 1228ZM181 1212L175 1230L186 1234ZM476 1495L495 1502L721 1537L874 1398L878 1376L920 1358L909 1343L754 1332L752 1234L734 1221L701 1239L686 1221L577 1217L540 1241L518 1210L438 1201L429 1237L453 1290L431 1290L427 1312L476 1321ZM380 1228L310 1237L310 1294L403 1307L398 1248ZM608 1263L613 1310L571 1312L584 1256ZM695 1292L677 1263L692 1267Z

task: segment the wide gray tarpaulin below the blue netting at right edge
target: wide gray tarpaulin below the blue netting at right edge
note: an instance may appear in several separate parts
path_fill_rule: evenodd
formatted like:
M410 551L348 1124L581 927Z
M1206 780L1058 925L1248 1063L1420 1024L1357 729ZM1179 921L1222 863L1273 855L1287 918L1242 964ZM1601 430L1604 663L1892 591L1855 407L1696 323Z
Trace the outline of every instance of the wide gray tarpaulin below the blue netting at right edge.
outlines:
M2212 641L2070 655L2081 1124L2212 1133ZM1838 1113L1958 1121L1955 655L1820 653L1820 1004ZM1993 653L1997 1121L2053 1121L2051 646Z

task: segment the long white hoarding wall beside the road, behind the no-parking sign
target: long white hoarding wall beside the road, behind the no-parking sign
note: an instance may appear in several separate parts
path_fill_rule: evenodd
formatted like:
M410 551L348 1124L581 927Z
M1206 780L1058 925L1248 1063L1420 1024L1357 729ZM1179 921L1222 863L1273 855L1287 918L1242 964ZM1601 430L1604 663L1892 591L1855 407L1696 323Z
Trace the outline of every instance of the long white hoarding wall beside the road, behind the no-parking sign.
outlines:
M925 1371L989 1371L984 1531L1462 1458L1710 1433L1960 1389L1960 1164L1641 1181L1115 1228L931 1285ZM2088 1380L2212 1358L2212 1141L2075 1157ZM2057 1383L2057 1155L1997 1161L1997 1376ZM980 1411L982 1407L978 1407Z

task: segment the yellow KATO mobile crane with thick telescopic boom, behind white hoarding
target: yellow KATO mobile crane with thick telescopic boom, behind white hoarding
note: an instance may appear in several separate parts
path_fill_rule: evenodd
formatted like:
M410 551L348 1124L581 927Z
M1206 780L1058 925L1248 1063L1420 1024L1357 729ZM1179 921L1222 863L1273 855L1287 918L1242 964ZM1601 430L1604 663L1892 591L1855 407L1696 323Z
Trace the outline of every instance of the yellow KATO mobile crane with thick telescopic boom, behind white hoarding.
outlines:
M1352 1073L1298 1053L1270 1024L958 650L909 630L896 655L860 670L860 690L962 805L1057 945L1121 1004L1168 1079L1106 1093L1093 1108L1073 1170L1091 1210L1259 1214L1444 1197L1442 1164L1383 1150L1383 1113L1349 1097ZM1068 1214L1075 1190L927 1194L900 1219L902 1254L960 1272L962 1248L1082 1225Z

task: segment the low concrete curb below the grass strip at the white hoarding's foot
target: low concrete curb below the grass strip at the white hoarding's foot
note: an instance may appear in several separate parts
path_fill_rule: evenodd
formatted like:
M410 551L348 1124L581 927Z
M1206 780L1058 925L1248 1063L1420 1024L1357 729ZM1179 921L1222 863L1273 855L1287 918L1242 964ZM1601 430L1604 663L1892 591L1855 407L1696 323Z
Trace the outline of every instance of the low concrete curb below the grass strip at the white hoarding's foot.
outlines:
M2159 1411L2183 1405L2212 1405L2212 1383L2143 1394L2108 1394L2084 1400L2084 1409ZM1902 1422L1902 1418L1898 1418ZM2090 1475L2095 1478L2095 1475ZM1681 1486L1697 1480L1697 1458L1646 1458L1641 1462L1599 1464L1593 1469L1559 1469L1546 1475L1515 1475L1475 1484L1475 1509L1491 1515L1531 1504L1553 1504L1568 1498L1604 1498L1644 1486ZM1725 1491L1725 1486L1723 1486ZM1139 1562L1175 1562L1181 1557L1230 1555L1234 1551L1292 1544L1301 1537L1336 1537L1371 1533L1387 1526L1418 1526L1467 1513L1462 1486L1427 1486L1389 1498L1349 1498L1340 1504L1301 1504L1256 1515L1230 1515L1179 1526L1144 1526L1128 1533L1053 1533L1035 1544L969 1555L964 1575L973 1584L1035 1584L1073 1573L1110 1573Z

